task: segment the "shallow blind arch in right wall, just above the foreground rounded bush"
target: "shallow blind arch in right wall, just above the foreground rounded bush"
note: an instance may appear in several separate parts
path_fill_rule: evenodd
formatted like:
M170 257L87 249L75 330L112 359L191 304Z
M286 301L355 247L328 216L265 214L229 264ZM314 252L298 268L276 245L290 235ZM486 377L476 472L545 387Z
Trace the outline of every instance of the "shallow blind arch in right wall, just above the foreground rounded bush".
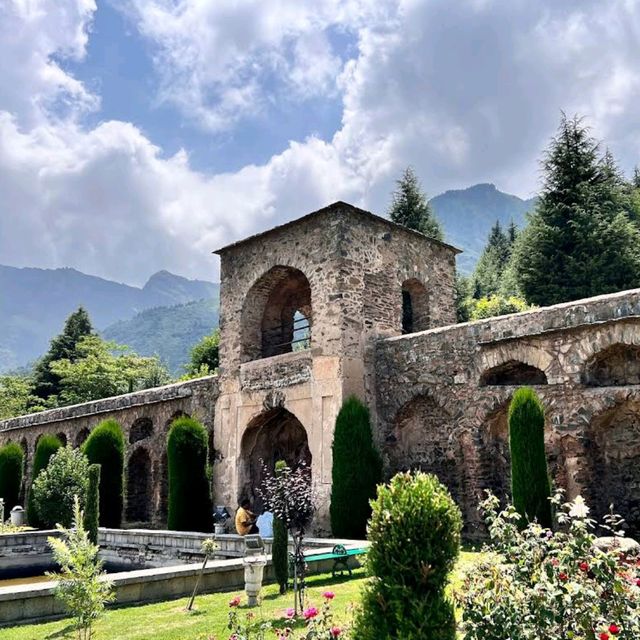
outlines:
M453 423L433 398L417 396L398 412L385 451L391 474L412 469L433 473L463 507L465 462Z

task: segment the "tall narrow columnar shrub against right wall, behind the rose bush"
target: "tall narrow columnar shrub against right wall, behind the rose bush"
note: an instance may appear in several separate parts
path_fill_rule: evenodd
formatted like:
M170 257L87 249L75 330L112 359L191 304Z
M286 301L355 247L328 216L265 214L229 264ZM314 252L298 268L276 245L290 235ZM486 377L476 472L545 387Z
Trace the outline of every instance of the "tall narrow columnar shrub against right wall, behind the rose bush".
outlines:
M536 392L518 389L509 405L511 495L523 526L551 526L551 483L544 450L544 407Z

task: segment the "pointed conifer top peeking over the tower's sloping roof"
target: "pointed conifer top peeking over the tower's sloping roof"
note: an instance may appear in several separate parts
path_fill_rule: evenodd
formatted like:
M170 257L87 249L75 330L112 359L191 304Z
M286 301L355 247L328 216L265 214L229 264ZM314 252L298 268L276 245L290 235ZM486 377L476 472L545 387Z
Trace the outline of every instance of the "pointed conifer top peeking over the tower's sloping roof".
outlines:
M433 213L429 201L422 192L418 177L411 167L404 170L397 185L388 212L391 220L414 231L420 231L429 238L442 240L444 234L440 222Z

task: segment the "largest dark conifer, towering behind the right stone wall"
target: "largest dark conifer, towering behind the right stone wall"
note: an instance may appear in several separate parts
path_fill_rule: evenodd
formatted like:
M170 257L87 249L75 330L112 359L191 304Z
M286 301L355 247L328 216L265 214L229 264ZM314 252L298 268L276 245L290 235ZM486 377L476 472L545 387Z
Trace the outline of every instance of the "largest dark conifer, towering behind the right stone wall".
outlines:
M564 115L542 162L542 194L514 250L528 302L549 305L640 285L640 231L611 154Z

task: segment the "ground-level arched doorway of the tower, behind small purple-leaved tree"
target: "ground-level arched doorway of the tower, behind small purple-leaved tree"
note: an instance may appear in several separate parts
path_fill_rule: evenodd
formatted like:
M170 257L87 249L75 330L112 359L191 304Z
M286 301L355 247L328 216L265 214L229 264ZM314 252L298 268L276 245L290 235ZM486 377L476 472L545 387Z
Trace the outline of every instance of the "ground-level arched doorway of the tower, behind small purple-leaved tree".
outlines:
M278 460L295 468L304 462L311 468L311 451L307 432L291 412L282 407L264 411L251 420L242 437L238 481L238 501L248 497L255 509L262 500L258 489L264 466L272 471Z

